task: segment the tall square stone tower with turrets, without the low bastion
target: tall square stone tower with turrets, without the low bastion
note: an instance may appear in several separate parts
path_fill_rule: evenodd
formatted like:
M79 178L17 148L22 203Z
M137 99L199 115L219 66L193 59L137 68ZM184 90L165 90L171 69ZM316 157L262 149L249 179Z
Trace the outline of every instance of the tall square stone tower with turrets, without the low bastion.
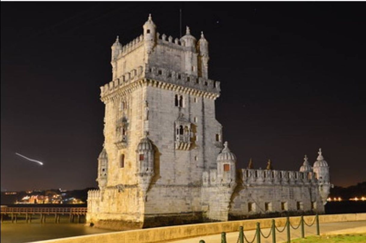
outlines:
M98 192L90 192L88 221L141 228L199 221L204 170L222 148L208 79L208 42L157 33L149 15L143 34L112 47L112 82L101 87L104 148ZM208 129L209 128L209 129Z

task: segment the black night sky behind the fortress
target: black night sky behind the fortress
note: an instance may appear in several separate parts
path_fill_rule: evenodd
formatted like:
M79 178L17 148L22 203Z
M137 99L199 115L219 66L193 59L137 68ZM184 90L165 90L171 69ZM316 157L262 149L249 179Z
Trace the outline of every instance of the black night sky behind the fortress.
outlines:
M97 185L110 47L142 34L150 12L178 37L179 8L209 41L238 167L298 170L322 147L333 184L365 181L363 2L1 2L1 190Z

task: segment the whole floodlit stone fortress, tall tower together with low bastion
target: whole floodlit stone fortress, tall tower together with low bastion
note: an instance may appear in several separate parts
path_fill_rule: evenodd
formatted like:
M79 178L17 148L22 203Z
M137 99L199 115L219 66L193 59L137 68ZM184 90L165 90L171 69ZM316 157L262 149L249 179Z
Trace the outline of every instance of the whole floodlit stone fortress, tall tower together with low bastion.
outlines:
M220 82L208 79L203 33L197 41L187 27L186 35L173 40L157 33L149 16L132 42L122 46L117 37L111 59L112 81L101 87L100 189L89 191L88 223L130 229L324 211L329 170L318 170L328 173L322 185L311 167L236 170L215 119Z

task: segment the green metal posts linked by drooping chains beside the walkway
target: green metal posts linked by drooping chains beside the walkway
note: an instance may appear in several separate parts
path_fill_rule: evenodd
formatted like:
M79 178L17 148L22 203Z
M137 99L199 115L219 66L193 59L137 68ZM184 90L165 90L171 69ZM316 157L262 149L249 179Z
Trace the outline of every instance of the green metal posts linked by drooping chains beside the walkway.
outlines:
M257 240L256 243L261 243L261 237L266 239L266 238L269 238L271 235L272 235L272 243L276 243L276 231L281 233L281 232L284 232L285 229L286 229L287 243L290 243L291 242L290 228L292 228L292 229L301 228L301 238L305 238L305 227L304 227L304 225L307 225L308 227L311 227L315 223L316 223L316 228L317 228L317 235L320 235L319 216L318 215L315 215L314 221L311 224L307 224L306 221L304 220L304 216L301 216L299 224L297 226L292 225L291 222L290 222L290 218L287 217L286 223L285 223L283 229L277 228L275 220L272 219L271 229L270 229L268 235L265 235L262 232L261 226L258 222L257 227L255 229L254 237L251 240L249 240L245 236L243 226L240 226L239 227L239 236L238 236L238 240L236 241L236 243L253 243L254 240ZM205 241L200 240L199 243L205 243ZM226 233L225 232L221 233L221 243L227 243Z

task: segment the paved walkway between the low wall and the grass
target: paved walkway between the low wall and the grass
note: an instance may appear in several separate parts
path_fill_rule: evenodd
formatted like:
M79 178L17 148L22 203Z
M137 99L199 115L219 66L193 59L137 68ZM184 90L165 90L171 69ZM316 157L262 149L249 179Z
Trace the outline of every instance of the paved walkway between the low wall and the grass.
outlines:
M297 225L293 225L297 227ZM316 226L315 224L311 227L305 227L305 236L309 235L316 235ZM280 230L283 227L279 227ZM238 229L239 231L239 229ZM262 232L265 236L269 234L270 228L262 229ZM350 234L350 233L366 233L366 221L350 221L350 222L334 222L334 223L321 223L320 224L320 234ZM296 230L290 230L291 239L296 239L301 237L301 229L300 227ZM253 240L255 235L255 230L245 231L244 235L248 240ZM227 243L236 243L238 240L239 232L230 232L226 234ZM198 243L199 240L205 240L206 243L220 243L221 236L220 234L217 235L206 235L206 236L199 236L195 238L188 238L182 240L173 240L168 242L174 243ZM276 242L286 242L286 229L279 233L276 231ZM254 243L256 240L254 241ZM261 236L261 243L272 243L272 236L268 239L264 239Z

